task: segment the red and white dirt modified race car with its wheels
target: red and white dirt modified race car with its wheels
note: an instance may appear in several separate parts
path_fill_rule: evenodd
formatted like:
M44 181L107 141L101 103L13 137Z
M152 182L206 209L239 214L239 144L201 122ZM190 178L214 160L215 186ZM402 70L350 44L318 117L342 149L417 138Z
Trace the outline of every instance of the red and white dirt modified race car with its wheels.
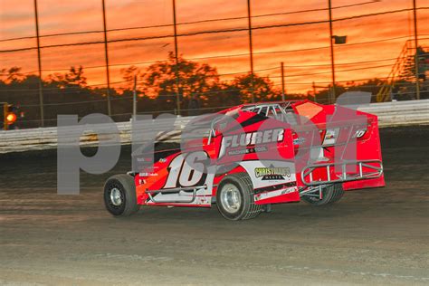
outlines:
M272 204L328 205L346 191L385 186L372 114L283 101L243 104L187 126L196 138L182 134L180 148L155 152L151 166L107 180L112 215L215 204L224 218L242 220Z

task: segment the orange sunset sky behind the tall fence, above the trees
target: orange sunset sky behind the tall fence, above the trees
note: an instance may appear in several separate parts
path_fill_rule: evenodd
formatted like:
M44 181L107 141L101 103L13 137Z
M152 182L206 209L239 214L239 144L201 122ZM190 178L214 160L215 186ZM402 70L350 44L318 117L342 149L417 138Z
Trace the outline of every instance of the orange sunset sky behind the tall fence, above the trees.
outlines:
M364 4L369 0L332 0L332 6ZM333 10L334 19L412 8L412 0L382 0ZM108 29L172 24L171 0L106 0ZM328 1L252 0L253 27L328 20L328 11L280 14L301 10L327 8ZM417 0L419 7L429 7L429 0ZM207 19L244 17L228 21L180 24L178 33L207 30L246 28L246 0L176 0L178 23ZM418 32L421 44L429 48L429 10L418 12ZM337 81L353 81L387 76L396 62L405 41L414 33L412 12L383 14L334 23L334 34L348 35L348 43L335 46ZM41 35L102 30L101 0L65 1L39 0ZM148 37L173 33L173 26L128 31L112 31L109 40ZM4 41L33 36L33 0L0 0L0 51L36 45L34 38ZM394 39L393 39L394 38ZM425 38L425 39L424 39ZM103 33L52 36L41 39L41 45L102 41ZM386 40L378 43L367 43ZM247 31L234 33L205 33L178 38L179 53L186 59L207 62L220 74L249 71L249 39ZM110 43L111 81L121 81L120 69L131 64L141 68L162 61L174 51L172 37ZM305 92L311 81L327 86L331 79L329 58L329 24L304 24L253 30L254 70L269 75L280 83L280 62L284 62L286 89ZM224 57L223 57L224 56ZM380 61L380 62L376 62ZM142 63L143 62L143 63ZM43 77L63 72L71 65L82 65L89 84L105 83L103 44L45 48L42 50ZM24 72L37 70L36 51L0 52L0 69L23 67ZM368 68L368 69L365 69ZM359 69L357 71L348 71ZM260 71L262 70L262 71ZM316 73L316 74L314 74ZM230 80L232 75L221 77Z

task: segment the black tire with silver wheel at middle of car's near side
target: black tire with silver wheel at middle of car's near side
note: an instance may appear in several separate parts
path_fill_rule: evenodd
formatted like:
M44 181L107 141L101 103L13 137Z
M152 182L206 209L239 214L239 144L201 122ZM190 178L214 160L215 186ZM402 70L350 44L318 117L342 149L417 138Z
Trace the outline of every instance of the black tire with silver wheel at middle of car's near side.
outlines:
M224 218L232 221L254 218L262 213L263 205L255 205L253 195L253 184L249 175L237 173L225 176L216 191L217 209ZM239 205L232 201L239 202Z

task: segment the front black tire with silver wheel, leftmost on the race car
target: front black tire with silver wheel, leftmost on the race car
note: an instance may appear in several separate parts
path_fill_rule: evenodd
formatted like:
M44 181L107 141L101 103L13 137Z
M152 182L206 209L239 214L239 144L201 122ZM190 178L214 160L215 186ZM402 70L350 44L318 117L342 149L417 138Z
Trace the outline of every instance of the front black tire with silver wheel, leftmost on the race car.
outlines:
M137 213L134 178L126 174L110 176L104 184L104 204L111 215L129 216Z

